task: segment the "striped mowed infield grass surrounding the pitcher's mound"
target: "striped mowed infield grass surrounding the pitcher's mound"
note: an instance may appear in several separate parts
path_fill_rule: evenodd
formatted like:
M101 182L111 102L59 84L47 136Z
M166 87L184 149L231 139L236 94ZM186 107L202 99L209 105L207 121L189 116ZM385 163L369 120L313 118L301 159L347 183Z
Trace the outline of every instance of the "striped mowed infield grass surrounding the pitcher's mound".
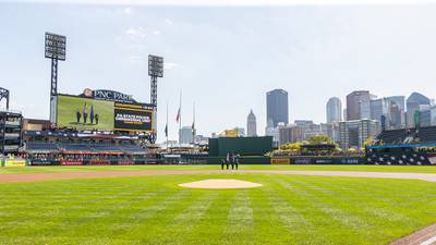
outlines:
M264 184L190 189L205 179ZM436 183L280 174L0 185L0 244L387 244L436 222Z

